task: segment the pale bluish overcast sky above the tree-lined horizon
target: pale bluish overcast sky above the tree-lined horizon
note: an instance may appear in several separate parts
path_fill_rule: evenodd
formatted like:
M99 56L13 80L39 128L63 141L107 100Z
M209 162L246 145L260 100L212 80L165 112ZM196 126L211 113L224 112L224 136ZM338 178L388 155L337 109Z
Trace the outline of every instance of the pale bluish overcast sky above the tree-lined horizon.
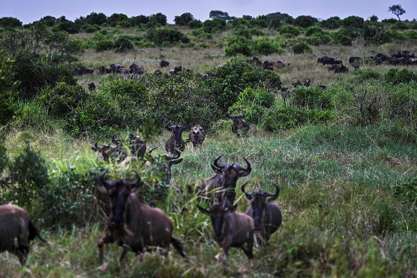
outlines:
M376 15L379 20L397 18L388 11L392 5L400 4L406 11L402 20L417 18L416 0L0 0L0 18L18 18L23 24L34 22L46 15L55 18L65 15L74 21L90 13L124 13L129 18L136 15L163 13L168 23L173 23L176 15L191 13L195 19L209 19L210 11L227 12L230 16L267 15L268 13L288 13L293 18L311 15L318 19L332 16L347 18L357 15L364 20Z

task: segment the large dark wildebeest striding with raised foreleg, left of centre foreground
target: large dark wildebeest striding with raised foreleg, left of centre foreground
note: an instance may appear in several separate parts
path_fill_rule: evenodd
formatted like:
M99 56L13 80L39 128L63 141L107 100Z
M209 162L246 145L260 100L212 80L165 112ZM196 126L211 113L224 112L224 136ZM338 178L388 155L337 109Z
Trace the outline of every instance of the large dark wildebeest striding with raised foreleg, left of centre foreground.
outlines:
M154 209L138 199L135 192L140 190L143 182L137 179L105 180L107 169L102 171L97 181L98 190L110 197L110 216L107 218L107 232L98 240L100 265L103 263L104 244L114 241L122 246L119 260L124 260L127 251L137 255L148 249L160 247L168 258L170 244L185 257L183 244L172 237L173 225L164 211Z

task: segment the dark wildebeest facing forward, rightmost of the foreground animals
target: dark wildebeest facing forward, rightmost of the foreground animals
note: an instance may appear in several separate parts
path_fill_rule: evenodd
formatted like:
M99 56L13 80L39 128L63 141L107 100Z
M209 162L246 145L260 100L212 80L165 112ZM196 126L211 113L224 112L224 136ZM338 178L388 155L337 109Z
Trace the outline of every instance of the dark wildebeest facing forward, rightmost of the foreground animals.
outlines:
M263 190L245 192L245 185L241 186L241 192L244 192L246 199L251 201L251 206L245 213L253 218L260 244L266 244L270 240L271 234L277 231L282 223L281 210L274 204L279 195L279 187L272 183L277 192L270 194Z

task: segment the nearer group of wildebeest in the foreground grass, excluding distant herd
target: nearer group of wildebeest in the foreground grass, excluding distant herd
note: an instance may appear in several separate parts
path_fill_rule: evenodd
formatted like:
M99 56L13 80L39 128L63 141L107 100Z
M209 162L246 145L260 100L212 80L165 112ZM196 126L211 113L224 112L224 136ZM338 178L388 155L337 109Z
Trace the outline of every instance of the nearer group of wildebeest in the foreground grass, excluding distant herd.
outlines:
M239 125L249 129L249 124L243 120L243 115L235 115L232 131L239 136ZM236 126L235 126L236 125ZM166 172L167 184L171 184L171 166L179 164L180 153L185 150L186 141L181 134L189 131L188 143L193 147L201 147L206 138L206 131L201 126L175 124L166 129L171 136L166 141ZM98 157L105 161L114 159L124 164L131 158L145 159L145 166L152 164L152 148L147 152L146 141L138 135L130 133L128 138L117 138L112 135L112 144L95 145L92 150L98 152ZM147 155L145 156L147 152ZM238 178L249 176L252 171L251 162L244 157L246 167L239 164L219 164L219 155L211 165L216 173L213 178L204 180L199 187L199 211L210 216L214 237L218 246L228 256L230 247L244 250L248 258L253 258L253 242L259 239L260 244L266 244L270 235L275 232L282 222L281 211L273 204L279 194L279 187L274 185L276 192L270 194L263 190L245 192L247 183L241 186L251 205L246 213L235 211L236 186ZM173 223L161 209L145 204L138 197L138 191L143 187L141 176L136 172L135 180L107 180L107 168L102 171L95 184L100 192L110 197L110 215L107 218L105 236L98 240L99 262L102 265L104 245L117 243L121 246L119 260L124 260L128 251L138 256L144 251L159 249L167 258L169 247L172 245L180 256L185 257L183 244L172 236ZM208 209L204 209L206 206ZM35 237L48 244L39 234L37 227L29 220L29 214L18 206L7 204L0 206L0 252L9 251L18 256L20 263L25 264L29 254L29 243ZM7 225L4 225L6 223Z

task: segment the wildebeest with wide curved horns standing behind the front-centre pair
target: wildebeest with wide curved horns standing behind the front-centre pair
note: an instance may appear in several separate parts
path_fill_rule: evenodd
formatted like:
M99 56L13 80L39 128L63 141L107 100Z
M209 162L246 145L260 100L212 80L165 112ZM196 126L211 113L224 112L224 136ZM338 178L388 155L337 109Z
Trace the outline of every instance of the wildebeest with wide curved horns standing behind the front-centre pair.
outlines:
M238 178L248 176L251 171L251 163L244 157L246 161L246 168L238 164L220 164L218 165L218 160L222 157L219 155L213 161L213 171L216 173L216 176L210 180L205 180L200 185L199 196L204 197L209 204L218 203L223 199L227 199L230 204L234 203L236 198L236 183Z

